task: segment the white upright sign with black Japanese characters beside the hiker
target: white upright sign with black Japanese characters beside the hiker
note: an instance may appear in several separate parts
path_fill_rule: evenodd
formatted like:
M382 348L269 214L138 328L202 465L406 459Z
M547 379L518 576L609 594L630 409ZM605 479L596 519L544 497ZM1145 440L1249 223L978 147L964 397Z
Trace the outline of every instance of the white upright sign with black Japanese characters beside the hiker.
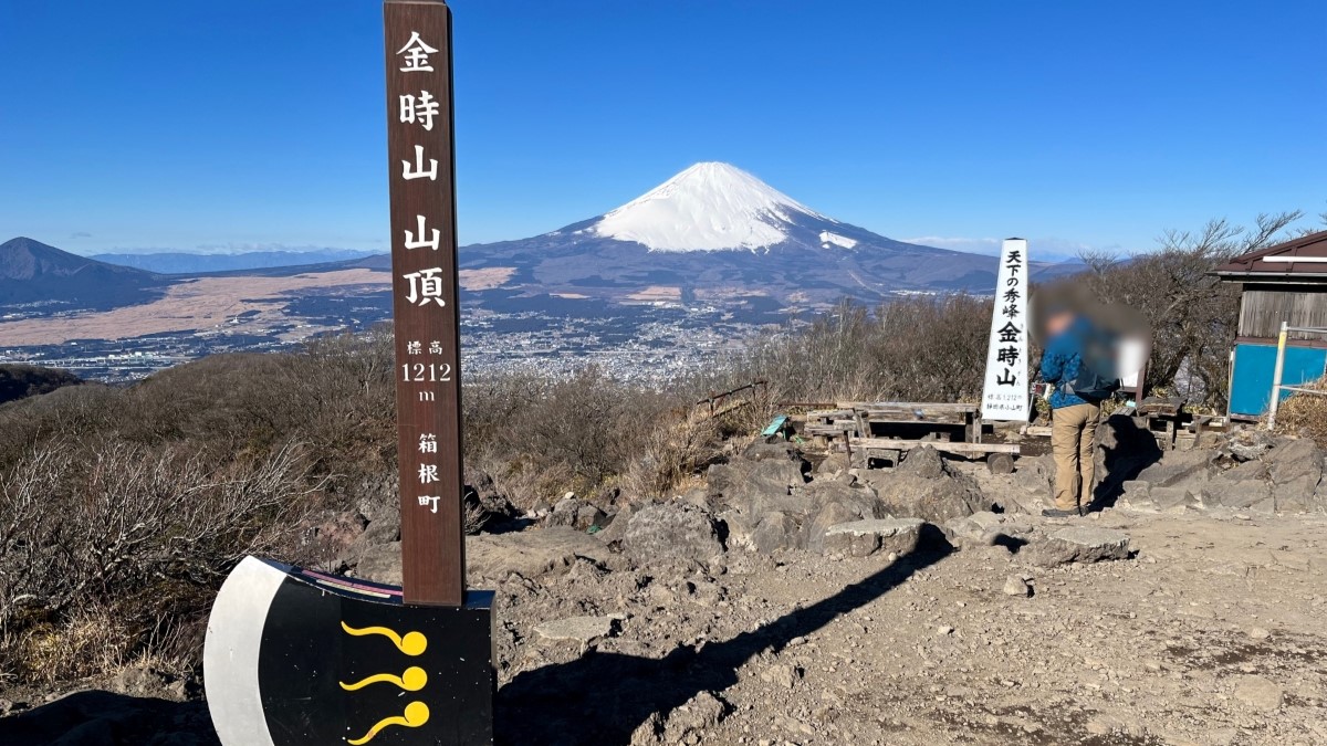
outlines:
M1005 239L995 280L990 348L986 352L982 419L1027 419L1027 242Z

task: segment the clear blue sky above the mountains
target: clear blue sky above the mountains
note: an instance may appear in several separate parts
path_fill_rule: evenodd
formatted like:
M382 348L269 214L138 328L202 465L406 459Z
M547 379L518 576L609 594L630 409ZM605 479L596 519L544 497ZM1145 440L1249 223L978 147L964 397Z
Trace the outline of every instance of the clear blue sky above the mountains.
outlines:
M697 161L958 248L1327 208L1316 0L451 5L463 243ZM381 45L373 0L0 0L0 240L385 250Z

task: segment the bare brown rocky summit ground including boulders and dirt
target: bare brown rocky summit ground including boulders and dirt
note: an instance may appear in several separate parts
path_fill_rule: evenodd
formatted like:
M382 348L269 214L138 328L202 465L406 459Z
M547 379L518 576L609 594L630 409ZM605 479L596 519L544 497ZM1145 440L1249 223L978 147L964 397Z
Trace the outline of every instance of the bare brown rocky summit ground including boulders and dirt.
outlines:
M1323 453L1143 435L1107 425L1104 510L1067 520L1039 515L1046 458L929 449L861 470L758 443L658 504L483 495L500 742L1327 743ZM342 569L393 580L390 515L366 518ZM215 742L194 682L126 676L0 694L0 742Z

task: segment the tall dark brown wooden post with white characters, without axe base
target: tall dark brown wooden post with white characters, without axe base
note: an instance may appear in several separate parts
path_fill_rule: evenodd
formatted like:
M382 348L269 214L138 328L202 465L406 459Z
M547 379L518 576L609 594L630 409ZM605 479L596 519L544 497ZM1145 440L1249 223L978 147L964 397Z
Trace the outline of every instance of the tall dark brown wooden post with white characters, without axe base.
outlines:
M460 605L460 333L451 110L451 11L386 0L401 560L407 604Z

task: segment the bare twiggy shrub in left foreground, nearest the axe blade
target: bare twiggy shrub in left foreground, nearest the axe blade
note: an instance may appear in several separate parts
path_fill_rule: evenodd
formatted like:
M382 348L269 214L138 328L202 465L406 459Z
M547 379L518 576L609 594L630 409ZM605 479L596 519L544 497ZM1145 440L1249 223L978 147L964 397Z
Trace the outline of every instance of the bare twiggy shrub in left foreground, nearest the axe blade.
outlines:
M303 462L295 445L220 466L180 447L122 442L33 451L0 475L7 665L29 676L84 672L200 619L239 559L288 548L293 514L317 490ZM96 609L114 609L94 615L102 623L119 620L101 625L109 638L89 632ZM53 662L61 652L84 662Z

